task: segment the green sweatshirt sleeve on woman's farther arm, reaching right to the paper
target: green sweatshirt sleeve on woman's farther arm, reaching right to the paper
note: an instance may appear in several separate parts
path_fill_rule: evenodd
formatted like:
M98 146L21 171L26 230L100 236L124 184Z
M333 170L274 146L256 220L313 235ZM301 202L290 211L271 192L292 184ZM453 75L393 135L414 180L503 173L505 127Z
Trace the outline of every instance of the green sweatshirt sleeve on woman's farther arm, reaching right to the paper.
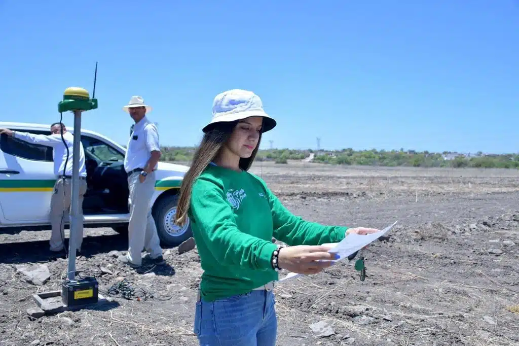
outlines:
M305 221L301 217L293 215L281 204L278 197L267 188L265 182L260 178L258 179L263 184L270 203L276 239L291 246L337 243L344 239L348 227L325 226L317 222Z

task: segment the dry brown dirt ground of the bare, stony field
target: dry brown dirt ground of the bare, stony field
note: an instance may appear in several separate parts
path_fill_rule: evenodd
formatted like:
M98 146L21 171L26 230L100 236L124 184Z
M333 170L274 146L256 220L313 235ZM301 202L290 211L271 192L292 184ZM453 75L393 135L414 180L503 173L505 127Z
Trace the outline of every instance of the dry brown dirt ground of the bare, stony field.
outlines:
M294 162L252 171L307 220L375 228L398 220L389 239L365 250L364 282L346 260L276 286L279 345L519 344L518 171ZM196 250L165 249L167 267L137 273L114 257L124 236L85 234L78 270L102 292L126 278L153 297L32 321L32 294L59 289L66 260L49 259L48 231L0 234L0 345L197 345ZM15 267L27 263L46 264L50 280L27 283Z

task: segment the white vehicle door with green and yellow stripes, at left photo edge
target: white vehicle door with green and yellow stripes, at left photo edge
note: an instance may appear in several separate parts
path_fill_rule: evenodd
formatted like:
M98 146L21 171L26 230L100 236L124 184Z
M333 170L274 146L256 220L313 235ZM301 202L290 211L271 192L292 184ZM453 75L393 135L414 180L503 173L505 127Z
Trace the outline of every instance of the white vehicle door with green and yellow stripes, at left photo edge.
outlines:
M17 129L49 135L49 131ZM49 222L50 198L56 176L52 148L0 136L0 205L6 223Z

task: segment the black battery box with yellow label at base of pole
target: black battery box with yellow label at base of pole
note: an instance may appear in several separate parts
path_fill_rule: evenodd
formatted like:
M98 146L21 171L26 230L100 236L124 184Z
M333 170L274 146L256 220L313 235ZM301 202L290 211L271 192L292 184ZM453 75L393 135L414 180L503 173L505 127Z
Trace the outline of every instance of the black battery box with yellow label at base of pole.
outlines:
M95 304L99 299L99 284L91 276L65 281L61 287L61 298L67 307Z

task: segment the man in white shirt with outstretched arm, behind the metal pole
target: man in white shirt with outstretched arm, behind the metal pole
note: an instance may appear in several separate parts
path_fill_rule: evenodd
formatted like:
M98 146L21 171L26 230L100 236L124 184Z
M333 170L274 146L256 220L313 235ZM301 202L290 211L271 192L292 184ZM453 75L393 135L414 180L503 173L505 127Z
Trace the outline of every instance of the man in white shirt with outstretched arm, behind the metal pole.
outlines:
M61 138L61 130L63 129L63 138ZM54 161L54 175L57 180L54 183L54 190L50 199L50 223L52 225L52 233L50 236L50 250L59 252L64 249L64 222L65 215L68 218L70 212L71 195L72 195L72 162L74 152L74 136L66 130L62 123L54 123L50 125L51 135L35 135L29 132L12 131L8 129L0 129L0 135L6 134L22 141L46 145L52 147L52 156ZM63 140L65 143L63 143ZM66 144L66 145L65 145ZM67 148L69 159L67 160ZM65 167L66 161L66 167ZM85 151L83 144L80 143L79 148L79 214L83 217L83 197L87 191L87 171L85 168ZM76 249L81 250L83 243L83 227L79 230L77 236L78 243Z

